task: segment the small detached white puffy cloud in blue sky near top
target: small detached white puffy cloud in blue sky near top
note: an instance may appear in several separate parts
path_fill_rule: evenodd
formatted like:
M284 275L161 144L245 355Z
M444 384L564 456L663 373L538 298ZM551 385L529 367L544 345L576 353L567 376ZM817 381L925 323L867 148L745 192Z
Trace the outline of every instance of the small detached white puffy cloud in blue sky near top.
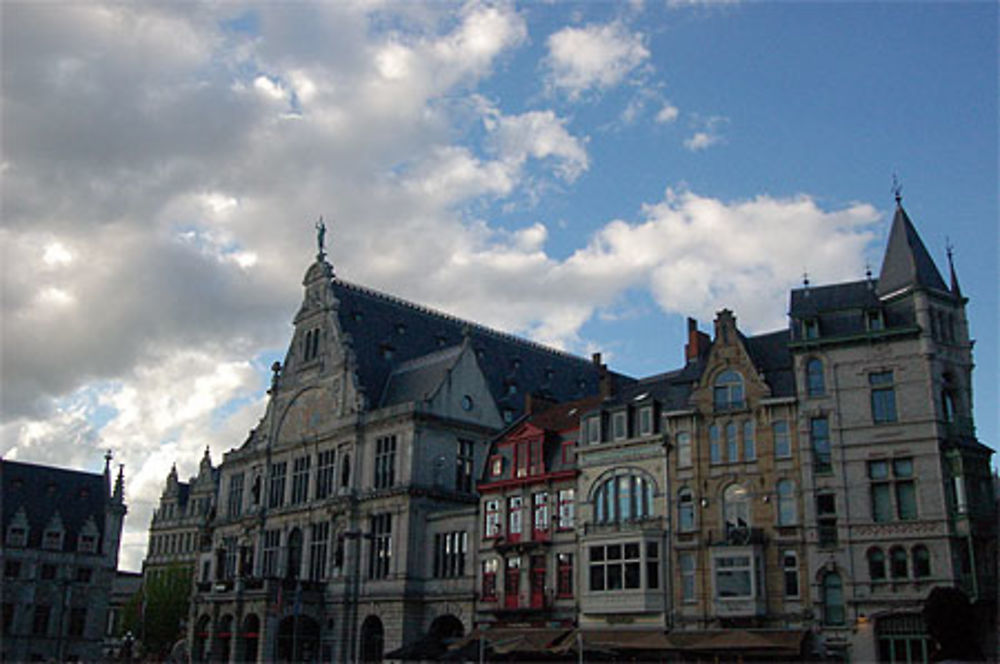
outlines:
M548 83L570 99L618 85L649 58L642 35L618 21L563 28L547 44Z

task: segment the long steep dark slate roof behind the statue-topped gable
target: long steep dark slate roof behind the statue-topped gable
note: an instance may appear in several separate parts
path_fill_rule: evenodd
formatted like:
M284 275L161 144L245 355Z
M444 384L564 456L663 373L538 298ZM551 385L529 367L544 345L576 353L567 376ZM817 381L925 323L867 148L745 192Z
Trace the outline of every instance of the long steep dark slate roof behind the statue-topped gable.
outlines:
M331 286L339 300L341 330L351 337L360 386L371 403L387 394L389 377L402 363L462 344L466 336L498 408L514 417L524 411L529 392L562 401L598 391L600 370L590 360L342 279L333 279ZM631 380L619 374L611 378Z

